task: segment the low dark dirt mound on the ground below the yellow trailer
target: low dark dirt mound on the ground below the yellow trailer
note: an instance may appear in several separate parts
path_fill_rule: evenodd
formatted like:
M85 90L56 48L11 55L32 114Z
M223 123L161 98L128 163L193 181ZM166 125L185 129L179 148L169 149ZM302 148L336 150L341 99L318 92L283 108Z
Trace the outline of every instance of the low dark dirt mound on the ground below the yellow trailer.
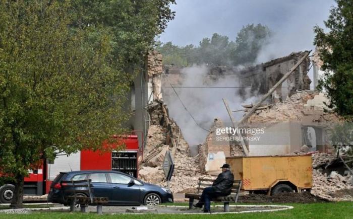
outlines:
M317 197L310 192L281 193L274 196L249 194L239 197L239 202L241 203L313 203L326 201L328 200Z

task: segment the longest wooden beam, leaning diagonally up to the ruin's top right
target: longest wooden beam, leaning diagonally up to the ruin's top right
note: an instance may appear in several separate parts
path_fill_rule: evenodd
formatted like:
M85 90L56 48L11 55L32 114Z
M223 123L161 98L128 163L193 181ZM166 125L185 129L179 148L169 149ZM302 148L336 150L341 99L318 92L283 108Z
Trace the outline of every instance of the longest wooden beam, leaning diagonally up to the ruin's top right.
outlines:
M238 122L238 124L242 124L245 120L247 120L251 116L251 114L253 114L255 110L259 108L259 106L284 82L284 80L286 80L290 76L290 74L292 74L292 72L297 69L297 67L308 57L310 52L311 50L308 51L305 55L303 55L303 57L299 59L299 61L293 67L291 67L290 70L267 92L267 94L265 94L260 99L260 101L255 106L253 106L253 108L251 108L247 114L243 116L243 118Z

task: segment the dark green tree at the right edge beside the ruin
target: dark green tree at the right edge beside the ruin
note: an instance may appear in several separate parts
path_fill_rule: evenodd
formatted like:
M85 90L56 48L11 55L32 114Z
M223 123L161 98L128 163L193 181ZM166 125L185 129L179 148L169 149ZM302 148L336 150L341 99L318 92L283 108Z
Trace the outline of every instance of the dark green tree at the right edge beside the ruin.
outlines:
M336 0L325 21L328 33L318 26L314 44L318 46L325 70L319 88L330 100L328 107L341 116L353 116L353 2Z

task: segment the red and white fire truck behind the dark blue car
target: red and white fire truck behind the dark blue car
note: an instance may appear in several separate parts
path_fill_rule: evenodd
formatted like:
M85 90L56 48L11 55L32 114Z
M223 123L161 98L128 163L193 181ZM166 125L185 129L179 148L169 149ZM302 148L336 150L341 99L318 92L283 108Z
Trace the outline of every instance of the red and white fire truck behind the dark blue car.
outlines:
M70 156L58 154L53 162L44 161L40 168L30 170L29 176L25 178L24 194L47 194L52 181L60 172L117 170L137 178L140 156L142 160L142 150L139 150L138 136L128 135L119 139L125 144L123 151L82 150ZM117 145L109 144L109 147L116 149ZM103 143L103 148L107 148L107 143ZM1 185L0 203L10 203L14 197L14 190L15 186L12 182Z

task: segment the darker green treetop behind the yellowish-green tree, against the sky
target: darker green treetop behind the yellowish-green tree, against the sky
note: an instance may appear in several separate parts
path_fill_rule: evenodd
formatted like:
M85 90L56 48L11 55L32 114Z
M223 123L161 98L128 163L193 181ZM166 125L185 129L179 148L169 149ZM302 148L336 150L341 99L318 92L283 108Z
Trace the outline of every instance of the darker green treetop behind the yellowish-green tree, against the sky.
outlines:
M174 18L170 4L175 0L75 0L72 26L104 27L112 36L114 57L127 67L139 61L153 46L155 36Z

